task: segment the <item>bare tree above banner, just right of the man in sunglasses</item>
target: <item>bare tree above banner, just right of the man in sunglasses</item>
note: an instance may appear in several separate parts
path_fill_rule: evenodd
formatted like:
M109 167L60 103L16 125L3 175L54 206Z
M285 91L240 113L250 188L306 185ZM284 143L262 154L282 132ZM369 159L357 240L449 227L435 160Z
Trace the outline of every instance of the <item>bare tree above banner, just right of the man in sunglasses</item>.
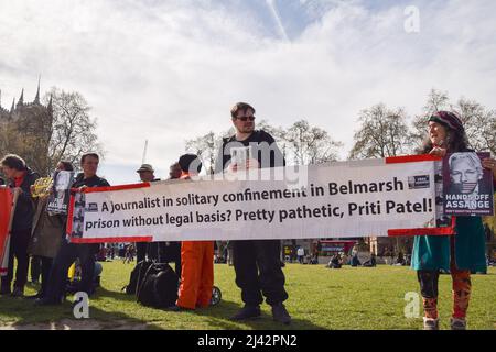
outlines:
M334 141L327 131L311 127L306 120L294 122L283 131L282 140L287 142L296 165L322 164L337 160L341 142Z

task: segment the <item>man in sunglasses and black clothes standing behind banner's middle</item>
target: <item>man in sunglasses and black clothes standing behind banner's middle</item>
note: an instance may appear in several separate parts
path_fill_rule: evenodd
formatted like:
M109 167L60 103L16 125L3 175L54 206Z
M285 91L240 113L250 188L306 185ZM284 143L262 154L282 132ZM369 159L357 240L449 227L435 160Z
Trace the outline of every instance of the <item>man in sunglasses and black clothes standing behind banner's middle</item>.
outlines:
M233 107L230 114L236 134L224 140L216 161L216 173L222 173L226 168L237 172L285 165L274 139L265 131L255 130L254 107L238 102ZM260 144L266 144L266 147L260 148ZM240 154L245 157L238 157ZM236 284L241 288L241 298L245 302L245 307L233 317L233 320L259 317L263 294L267 302L272 306L273 319L284 324L291 323L291 317L283 305L288 299L288 293L284 289L285 279L280 255L279 240L233 241Z

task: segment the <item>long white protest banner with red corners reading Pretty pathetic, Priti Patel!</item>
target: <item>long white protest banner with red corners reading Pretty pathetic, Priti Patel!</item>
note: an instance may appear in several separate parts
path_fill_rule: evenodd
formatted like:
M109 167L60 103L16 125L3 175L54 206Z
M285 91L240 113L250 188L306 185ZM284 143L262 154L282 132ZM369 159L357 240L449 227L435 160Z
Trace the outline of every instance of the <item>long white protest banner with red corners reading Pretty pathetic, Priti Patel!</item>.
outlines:
M248 180L86 188L72 197L67 234L87 243L451 233L434 228L430 156L256 173Z

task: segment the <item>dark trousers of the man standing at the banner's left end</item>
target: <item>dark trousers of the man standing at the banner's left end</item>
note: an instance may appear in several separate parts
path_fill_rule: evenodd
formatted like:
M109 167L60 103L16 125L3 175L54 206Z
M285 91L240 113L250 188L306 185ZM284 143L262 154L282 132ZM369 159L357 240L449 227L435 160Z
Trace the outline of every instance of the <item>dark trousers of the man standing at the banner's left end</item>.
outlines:
M76 258L79 258L82 270L79 289L91 295L97 249L95 244L67 243L64 239L50 271L45 298L58 301L65 295L67 271Z

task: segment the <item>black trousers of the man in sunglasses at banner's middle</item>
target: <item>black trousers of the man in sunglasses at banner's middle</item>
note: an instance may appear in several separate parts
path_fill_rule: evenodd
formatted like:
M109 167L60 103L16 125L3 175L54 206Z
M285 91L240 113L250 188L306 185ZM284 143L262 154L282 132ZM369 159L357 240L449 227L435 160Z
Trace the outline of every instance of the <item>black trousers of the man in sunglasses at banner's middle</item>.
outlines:
M262 295L271 306L288 299L280 255L279 240L233 241L236 285L246 305L260 305Z

